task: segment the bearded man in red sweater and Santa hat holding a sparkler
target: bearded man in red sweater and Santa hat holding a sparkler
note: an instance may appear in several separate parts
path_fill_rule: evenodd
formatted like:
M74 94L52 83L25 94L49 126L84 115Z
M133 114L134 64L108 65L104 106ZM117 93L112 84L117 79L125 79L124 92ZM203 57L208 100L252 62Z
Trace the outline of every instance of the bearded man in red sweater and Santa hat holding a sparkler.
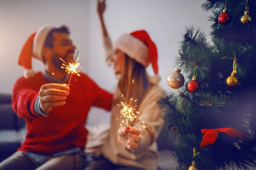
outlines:
M73 62L74 51L65 26L44 26L23 46L19 65L24 77L13 87L12 107L26 121L25 141L0 170L80 170L85 166L84 122L91 106L111 109L112 94L99 88L87 75L70 74L61 68L62 58ZM34 73L32 57L44 63L44 71Z

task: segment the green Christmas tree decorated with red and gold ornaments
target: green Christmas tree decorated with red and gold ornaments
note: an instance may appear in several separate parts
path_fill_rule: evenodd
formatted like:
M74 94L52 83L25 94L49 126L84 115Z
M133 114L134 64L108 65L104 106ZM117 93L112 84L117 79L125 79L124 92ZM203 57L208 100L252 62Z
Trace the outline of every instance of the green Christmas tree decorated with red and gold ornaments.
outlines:
M187 170L192 161L198 170L254 167L256 0L208 0L202 8L213 13L212 40L200 28L186 28L177 69L167 79L177 93L160 101L177 142L176 169Z

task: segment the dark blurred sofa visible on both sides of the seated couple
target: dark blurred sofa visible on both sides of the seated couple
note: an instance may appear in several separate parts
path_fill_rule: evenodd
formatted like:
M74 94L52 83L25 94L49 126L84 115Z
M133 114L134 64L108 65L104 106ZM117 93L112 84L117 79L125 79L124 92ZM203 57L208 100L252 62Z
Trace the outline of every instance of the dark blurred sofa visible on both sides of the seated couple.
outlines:
M11 99L10 94L0 94L0 161L12 155L26 136L25 121L12 110ZM170 170L175 163L171 153L174 140L165 133L163 127L157 139L159 170Z

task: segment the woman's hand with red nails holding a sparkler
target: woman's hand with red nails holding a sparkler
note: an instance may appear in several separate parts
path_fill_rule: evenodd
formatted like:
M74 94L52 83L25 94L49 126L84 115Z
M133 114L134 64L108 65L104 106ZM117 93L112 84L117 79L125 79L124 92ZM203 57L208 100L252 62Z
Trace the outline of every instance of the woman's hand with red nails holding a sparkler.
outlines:
M119 133L117 137L117 141L124 145L128 150L131 150L134 152L136 148L139 147L139 144L137 142L140 141L140 130L136 127L120 127Z

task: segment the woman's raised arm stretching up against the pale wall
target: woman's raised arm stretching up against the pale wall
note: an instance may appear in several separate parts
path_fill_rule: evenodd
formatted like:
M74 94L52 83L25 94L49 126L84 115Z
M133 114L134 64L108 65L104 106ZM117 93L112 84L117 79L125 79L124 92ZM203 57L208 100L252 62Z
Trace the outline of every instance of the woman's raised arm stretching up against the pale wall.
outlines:
M103 40L103 46L105 50L105 59L106 59L106 62L110 64L111 58L113 57L115 51L112 47L112 42L108 36L108 31L106 29L105 22L104 22L103 14L105 9L106 9L105 0L98 0L97 11L98 11L101 30L102 30L102 40Z

